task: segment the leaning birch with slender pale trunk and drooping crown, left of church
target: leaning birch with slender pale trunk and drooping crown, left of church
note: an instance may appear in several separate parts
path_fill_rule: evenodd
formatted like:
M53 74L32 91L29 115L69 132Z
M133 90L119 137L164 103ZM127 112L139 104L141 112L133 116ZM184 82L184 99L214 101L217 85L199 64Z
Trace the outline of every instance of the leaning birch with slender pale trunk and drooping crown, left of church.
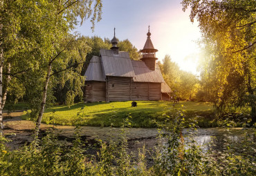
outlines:
M46 68L46 77L44 81L44 88L42 92L42 101L41 107L39 110L39 115L37 117L37 123L35 128L35 135L39 133L39 128L41 125L44 108L46 105L46 97L48 84L50 77L52 75L54 63L62 63L62 58L60 55L67 50L68 46L72 43L71 41L66 41L66 45L60 45L65 39L67 39L68 33L75 28L77 25L77 18L80 17L81 24L84 19L89 19L91 17L92 29L94 27L94 21L100 21L101 18L101 0L81 0L81 1L53 1L53 9L51 14L47 14L48 17L51 17L51 23L48 23L50 28L49 33L49 46L48 50L51 50L51 53L45 58L47 63Z

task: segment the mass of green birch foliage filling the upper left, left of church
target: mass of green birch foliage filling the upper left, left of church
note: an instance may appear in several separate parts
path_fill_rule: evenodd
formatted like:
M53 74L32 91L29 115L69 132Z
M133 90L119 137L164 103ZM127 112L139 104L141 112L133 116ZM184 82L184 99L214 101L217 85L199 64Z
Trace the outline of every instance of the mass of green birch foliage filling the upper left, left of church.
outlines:
M73 104L75 97L82 99L80 72L90 48L71 31L85 19L93 29L101 19L101 9L101 0L1 1L0 59L7 70L4 81L10 80L4 89L10 93L9 102L17 102L26 93L33 117L39 115L38 126L45 104L55 101L55 85L68 84L66 104Z

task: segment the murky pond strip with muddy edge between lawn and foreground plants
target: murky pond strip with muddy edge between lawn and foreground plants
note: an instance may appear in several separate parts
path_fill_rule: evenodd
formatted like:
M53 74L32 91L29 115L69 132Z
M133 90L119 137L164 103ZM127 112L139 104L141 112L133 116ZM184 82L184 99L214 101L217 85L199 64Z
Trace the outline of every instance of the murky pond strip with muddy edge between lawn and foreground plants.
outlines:
M11 113L9 116L4 114L3 133L10 134L8 135L8 138L12 140L8 143L10 149L17 149L33 141L35 123L33 121L21 120L20 115L22 115L22 112ZM58 138L66 142L67 145L71 145L71 142L75 139L75 132L77 131L75 126L42 124L41 134L45 135L47 130L53 130L53 132L58 135ZM212 137L214 137L218 148L222 148L223 142L226 139L239 142L239 140L244 137L245 132L249 139L256 139L255 129L245 130L244 128L199 128L194 138L199 144L205 144L210 142ZM109 139L116 140L120 136L120 133L120 128L80 127L82 140L87 141L88 144L97 143L95 139L102 139L103 141L108 141ZM183 134L186 133L188 133L188 130L184 129ZM129 128L125 134L128 138L129 150L136 150L143 145L145 145L147 149L154 148L157 143L156 137L158 136L158 130L156 128Z

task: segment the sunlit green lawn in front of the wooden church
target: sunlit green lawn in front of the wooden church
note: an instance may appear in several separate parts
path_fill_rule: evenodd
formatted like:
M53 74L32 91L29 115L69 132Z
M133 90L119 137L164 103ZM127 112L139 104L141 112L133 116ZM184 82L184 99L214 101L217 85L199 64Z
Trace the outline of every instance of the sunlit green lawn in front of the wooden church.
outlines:
M137 101L137 107L131 107L131 101L98 103L78 103L73 106L54 106L45 110L42 122L46 124L82 125L82 126L122 126L126 117L131 117L132 127L156 127L156 121L164 121L164 113L173 113L178 109L186 110L187 118L212 115L212 104L206 102L181 101ZM29 119L23 115L23 119ZM210 119L209 119L210 121Z

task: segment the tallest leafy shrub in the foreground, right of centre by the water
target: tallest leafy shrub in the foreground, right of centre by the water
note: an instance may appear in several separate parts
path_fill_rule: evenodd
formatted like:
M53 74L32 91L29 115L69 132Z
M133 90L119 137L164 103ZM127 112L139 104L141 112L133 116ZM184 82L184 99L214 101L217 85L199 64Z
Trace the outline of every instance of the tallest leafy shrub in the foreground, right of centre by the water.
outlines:
M157 146L154 164L156 173L160 175L203 175L204 170L210 169L204 160L203 150L192 138L194 132L188 136L183 135L184 117L183 111L178 111L172 116L166 116L165 124L162 125L160 139L166 141ZM190 124L191 130L196 129L196 121Z

